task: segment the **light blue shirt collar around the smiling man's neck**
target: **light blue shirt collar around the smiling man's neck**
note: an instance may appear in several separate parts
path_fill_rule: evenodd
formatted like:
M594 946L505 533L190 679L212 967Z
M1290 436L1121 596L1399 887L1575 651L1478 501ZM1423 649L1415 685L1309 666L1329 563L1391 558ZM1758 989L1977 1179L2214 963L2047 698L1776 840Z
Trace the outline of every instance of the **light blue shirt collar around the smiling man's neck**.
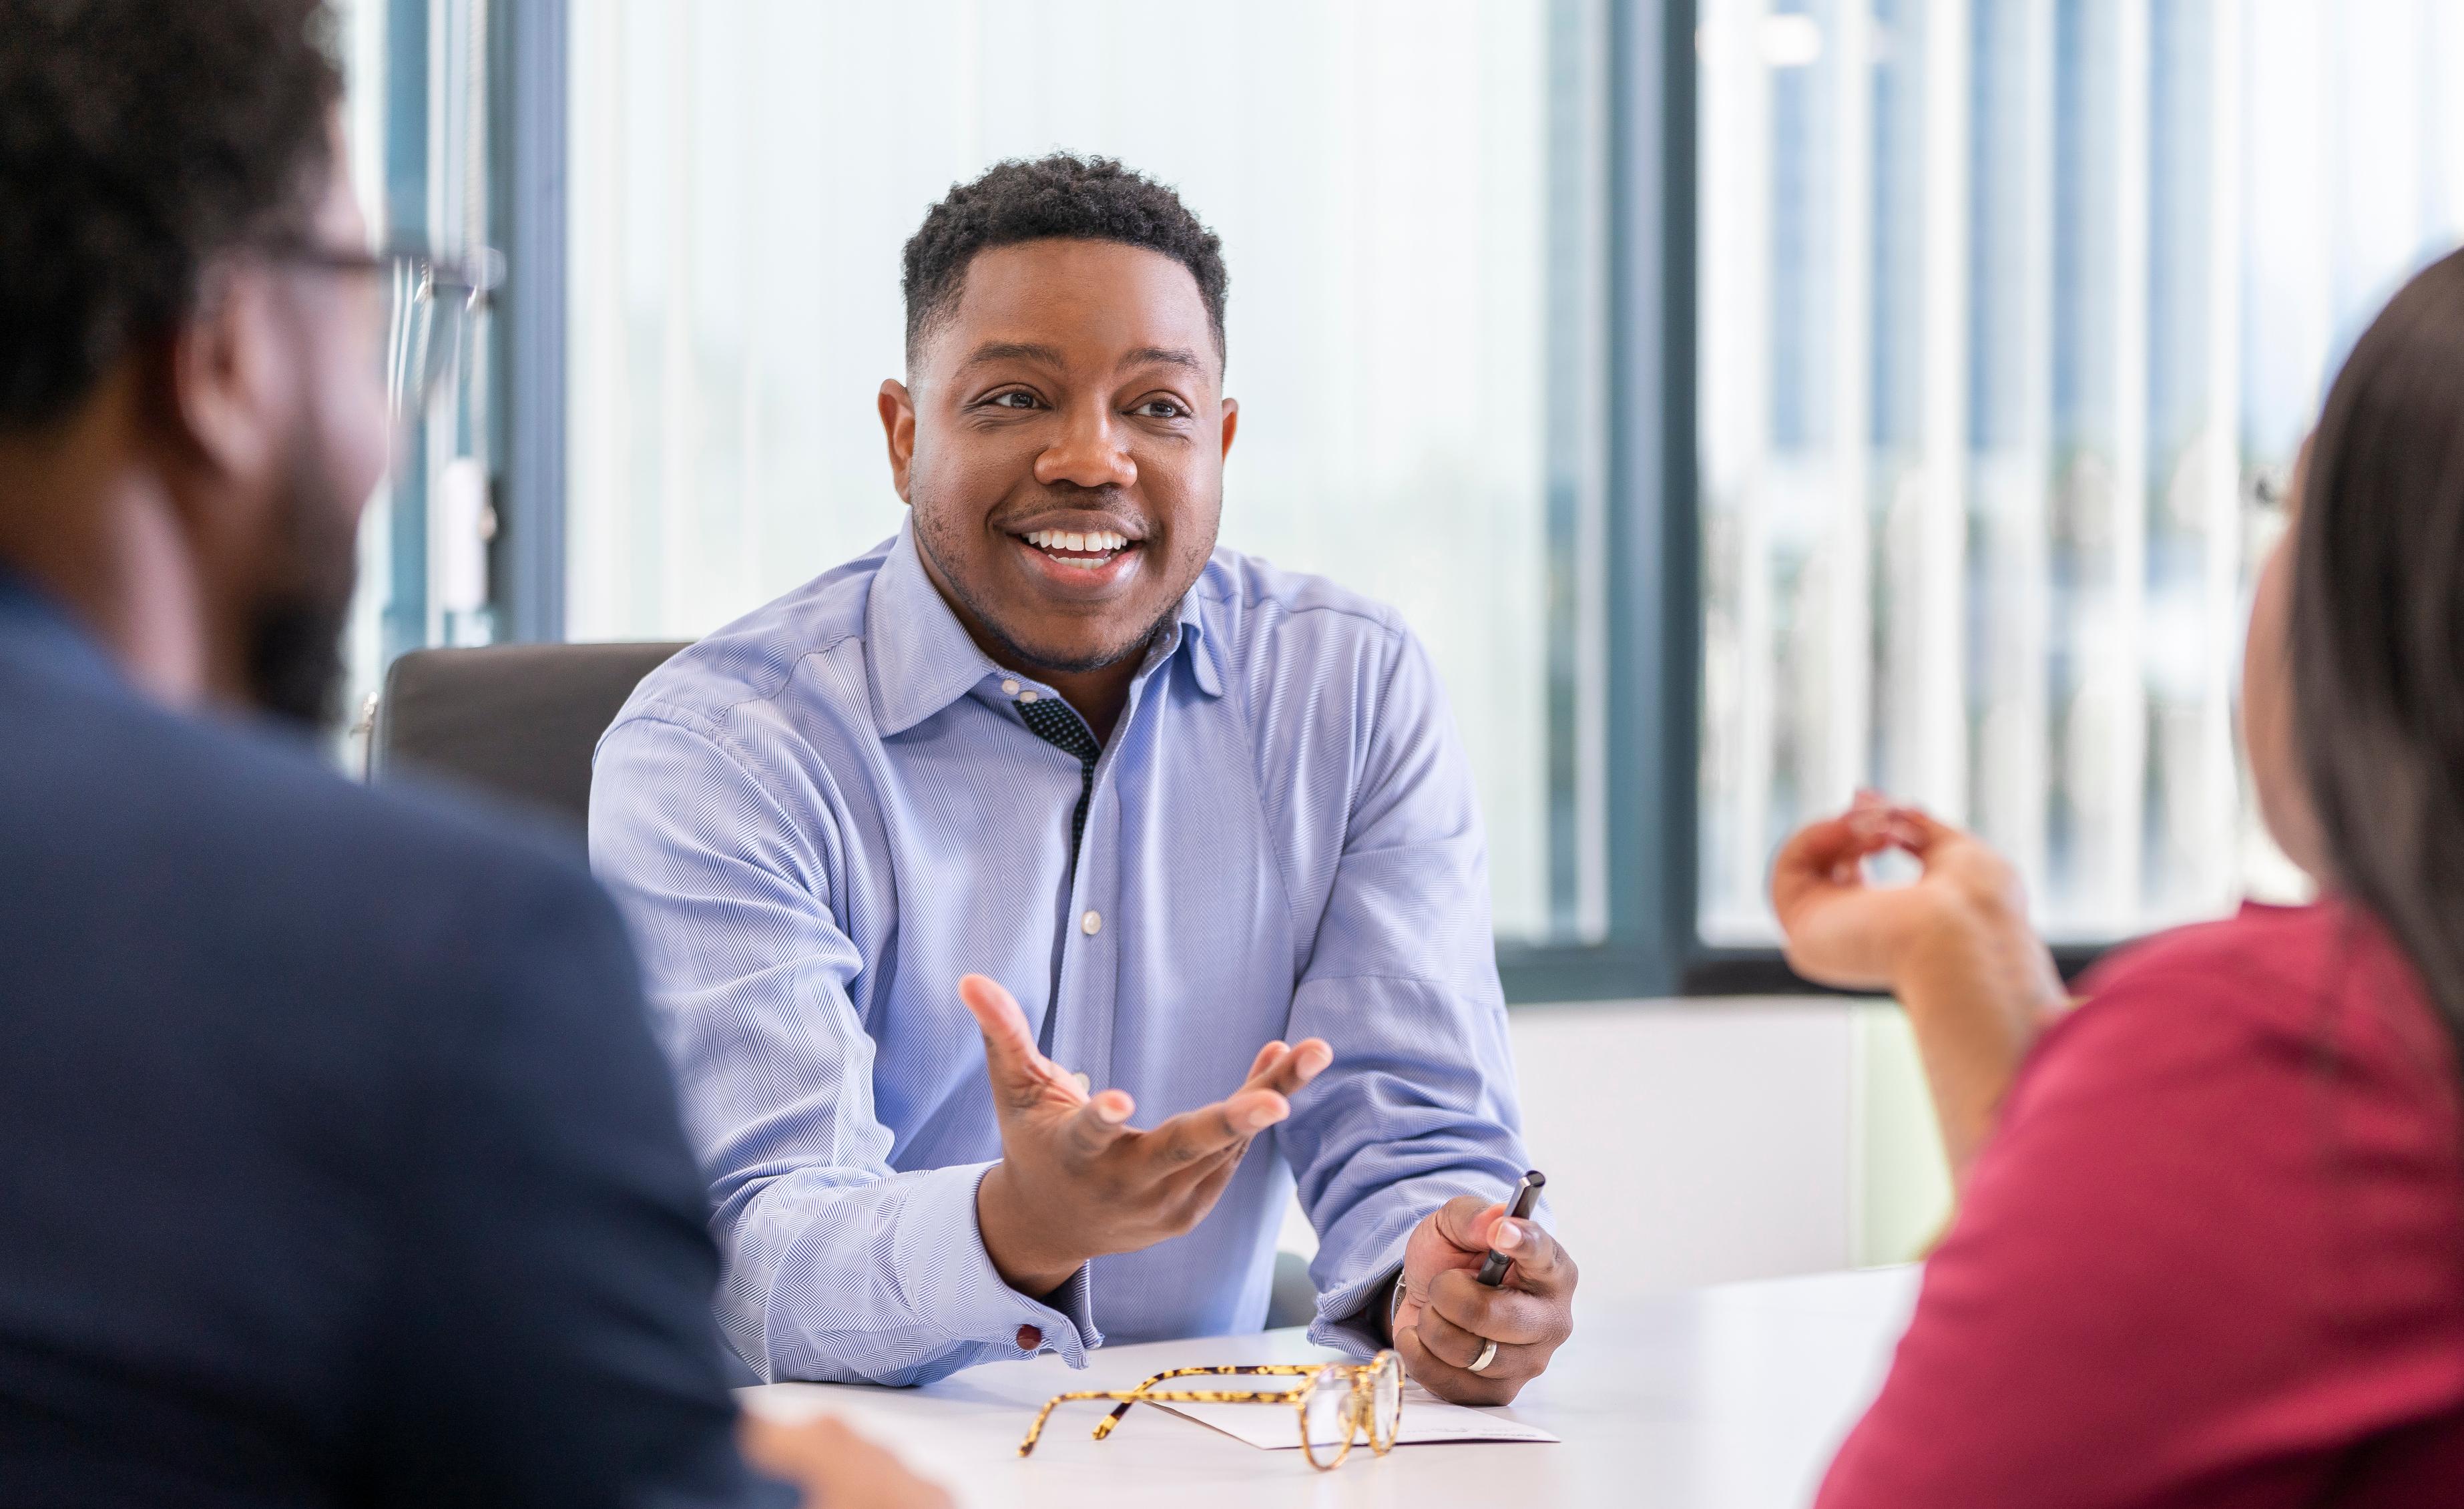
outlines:
M976 639L941 599L941 589L924 575L917 555L914 520L899 525L899 538L872 575L872 597L865 602L865 639L872 661L872 722L882 737L894 737L949 708L986 676L1000 676L1000 666L986 656ZM1180 594L1173 616L1173 644L1153 666L1175 653L1188 653L1198 690L1210 698L1222 695L1222 676L1210 653L1205 616L1198 589Z

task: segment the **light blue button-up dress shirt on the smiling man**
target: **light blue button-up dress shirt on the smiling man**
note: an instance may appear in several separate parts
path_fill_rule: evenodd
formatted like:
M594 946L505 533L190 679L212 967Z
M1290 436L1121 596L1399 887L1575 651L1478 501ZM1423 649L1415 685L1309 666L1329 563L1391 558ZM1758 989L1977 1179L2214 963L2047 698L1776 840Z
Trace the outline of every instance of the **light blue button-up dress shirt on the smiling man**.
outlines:
M641 944L727 1255L719 1329L764 1381L926 1383L1106 1336L1254 1331L1294 1179L1326 1341L1412 1225L1523 1171L1471 772L1377 604L1217 550L1104 747L1015 703L912 533L655 671L599 745L591 863ZM1000 1159L958 976L1136 1124L1222 1100L1271 1038L1335 1060L1188 1235L1050 1302L976 1230ZM1050 1018L1050 1023L1047 1023ZM1050 1031L1047 1031L1050 1026Z

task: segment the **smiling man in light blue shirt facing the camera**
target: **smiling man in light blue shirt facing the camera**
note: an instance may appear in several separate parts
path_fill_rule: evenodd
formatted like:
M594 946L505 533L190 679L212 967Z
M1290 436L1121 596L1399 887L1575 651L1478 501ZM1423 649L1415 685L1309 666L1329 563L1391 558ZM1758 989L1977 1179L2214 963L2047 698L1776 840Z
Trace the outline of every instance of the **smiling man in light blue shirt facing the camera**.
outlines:
M599 747L761 1378L1257 1329L1294 1179L1321 1339L1501 1403L1572 1331L1572 1260L1496 1206L1471 772L1390 609L1215 547L1222 306L1212 232L1114 163L954 187L880 392L907 528Z

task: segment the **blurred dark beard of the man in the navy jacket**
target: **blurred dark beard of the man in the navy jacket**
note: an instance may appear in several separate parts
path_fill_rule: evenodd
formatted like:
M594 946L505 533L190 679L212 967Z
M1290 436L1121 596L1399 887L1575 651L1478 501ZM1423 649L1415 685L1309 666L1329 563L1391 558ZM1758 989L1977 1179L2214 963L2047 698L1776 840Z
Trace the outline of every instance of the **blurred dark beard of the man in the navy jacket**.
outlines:
M269 587L249 611L249 695L293 722L340 722L342 629L360 575L360 510L335 498L313 441L301 439L276 513Z

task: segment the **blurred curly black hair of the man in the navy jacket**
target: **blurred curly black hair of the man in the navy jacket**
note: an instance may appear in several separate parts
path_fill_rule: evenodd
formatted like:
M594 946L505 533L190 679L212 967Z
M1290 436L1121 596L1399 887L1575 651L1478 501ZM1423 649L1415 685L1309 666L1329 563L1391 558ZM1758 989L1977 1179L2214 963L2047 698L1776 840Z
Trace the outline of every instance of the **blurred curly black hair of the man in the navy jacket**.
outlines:
M0 0L0 434L296 232L342 94L320 0Z

